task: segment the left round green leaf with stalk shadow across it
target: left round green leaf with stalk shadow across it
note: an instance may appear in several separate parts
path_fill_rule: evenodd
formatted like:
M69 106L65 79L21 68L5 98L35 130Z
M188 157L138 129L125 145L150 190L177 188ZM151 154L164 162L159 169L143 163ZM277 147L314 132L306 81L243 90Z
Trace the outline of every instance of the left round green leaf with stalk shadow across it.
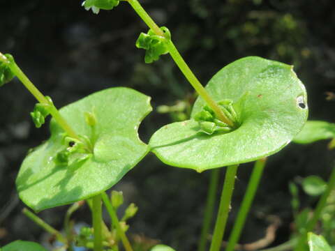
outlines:
M95 126L87 123L94 114ZM91 140L93 153L75 142L52 119L51 137L24 159L17 176L19 196L35 211L87 199L112 187L148 152L137 129L151 112L150 98L128 88L111 88L91 94L60 109L64 119ZM68 150L64 161L58 154ZM65 154L66 155L66 154ZM68 160L66 160L68 158Z

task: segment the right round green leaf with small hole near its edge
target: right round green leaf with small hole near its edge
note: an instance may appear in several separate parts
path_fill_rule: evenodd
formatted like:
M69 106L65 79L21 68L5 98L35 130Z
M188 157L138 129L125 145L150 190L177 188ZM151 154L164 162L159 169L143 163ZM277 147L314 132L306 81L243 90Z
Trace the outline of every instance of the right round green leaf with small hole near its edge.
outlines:
M202 172L274 154L306 122L306 90L292 66L249 56L230 63L209 81L214 100L231 100L240 126L207 135L194 119L171 123L151 137L151 150L168 165ZM205 107L198 98L191 118Z

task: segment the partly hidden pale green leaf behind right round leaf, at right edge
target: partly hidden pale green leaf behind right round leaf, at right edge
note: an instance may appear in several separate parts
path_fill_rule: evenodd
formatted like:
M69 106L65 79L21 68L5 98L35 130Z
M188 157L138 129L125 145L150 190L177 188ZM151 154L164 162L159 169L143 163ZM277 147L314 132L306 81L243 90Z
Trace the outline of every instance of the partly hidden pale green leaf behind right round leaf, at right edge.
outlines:
M326 121L307 121L301 132L293 139L298 144L310 144L335 137L335 124Z

